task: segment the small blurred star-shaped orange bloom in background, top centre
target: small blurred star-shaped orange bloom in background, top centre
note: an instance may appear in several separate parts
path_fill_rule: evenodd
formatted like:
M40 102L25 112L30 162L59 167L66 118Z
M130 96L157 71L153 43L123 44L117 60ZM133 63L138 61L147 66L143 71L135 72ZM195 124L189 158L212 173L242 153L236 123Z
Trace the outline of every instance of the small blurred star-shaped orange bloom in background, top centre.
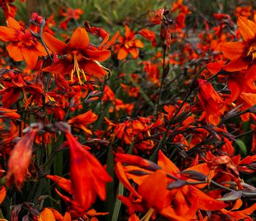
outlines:
M130 53L131 56L135 59L139 56L139 49L138 47L143 47L142 41L139 39L135 39L135 33L130 30L130 28L125 24L125 37L119 36L119 42L121 45L118 45L118 60L125 59L128 54Z

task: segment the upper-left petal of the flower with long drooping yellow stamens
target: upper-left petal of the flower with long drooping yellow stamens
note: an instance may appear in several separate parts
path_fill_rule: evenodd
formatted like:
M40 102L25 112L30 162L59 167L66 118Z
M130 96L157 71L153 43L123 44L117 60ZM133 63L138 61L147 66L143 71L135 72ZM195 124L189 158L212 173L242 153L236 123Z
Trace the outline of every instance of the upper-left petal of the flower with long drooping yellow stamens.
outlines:
M50 35L49 33L43 33L43 39L44 43L46 43L47 47L50 48L52 52L55 52L56 54L63 54L65 52L65 48L67 48L67 44L60 41L53 35Z

